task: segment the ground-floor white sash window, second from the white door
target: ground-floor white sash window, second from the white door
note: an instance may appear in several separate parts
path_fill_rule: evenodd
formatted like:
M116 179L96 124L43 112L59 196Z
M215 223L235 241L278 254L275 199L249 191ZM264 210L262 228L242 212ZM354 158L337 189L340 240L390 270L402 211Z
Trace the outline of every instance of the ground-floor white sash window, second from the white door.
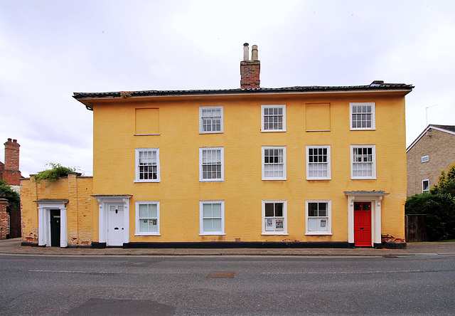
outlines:
M225 234L225 201L200 201L200 235Z

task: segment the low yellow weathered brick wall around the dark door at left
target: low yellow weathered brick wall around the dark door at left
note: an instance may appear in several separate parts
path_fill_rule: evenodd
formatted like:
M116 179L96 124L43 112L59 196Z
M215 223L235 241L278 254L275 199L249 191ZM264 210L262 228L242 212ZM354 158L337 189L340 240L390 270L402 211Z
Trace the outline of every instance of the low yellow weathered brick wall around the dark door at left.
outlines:
M57 181L21 179L22 241L38 243L38 203L46 199L68 199L68 246L89 246L93 240L92 177L68 174Z

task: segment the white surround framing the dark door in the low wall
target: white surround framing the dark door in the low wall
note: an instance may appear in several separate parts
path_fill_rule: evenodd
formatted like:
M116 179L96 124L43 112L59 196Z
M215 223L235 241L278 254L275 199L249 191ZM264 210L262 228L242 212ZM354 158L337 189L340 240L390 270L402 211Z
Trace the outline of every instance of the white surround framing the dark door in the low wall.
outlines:
M69 200L38 200L38 246L50 247L50 210L60 209L60 247L68 246L68 223L65 204Z

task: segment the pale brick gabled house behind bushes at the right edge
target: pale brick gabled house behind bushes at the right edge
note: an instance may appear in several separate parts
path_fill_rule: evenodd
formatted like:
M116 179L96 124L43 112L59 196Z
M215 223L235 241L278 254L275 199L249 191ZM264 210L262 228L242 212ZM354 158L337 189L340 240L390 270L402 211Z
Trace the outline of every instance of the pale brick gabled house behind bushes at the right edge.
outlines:
M406 149L407 196L428 192L455 162L455 126L428 125Z

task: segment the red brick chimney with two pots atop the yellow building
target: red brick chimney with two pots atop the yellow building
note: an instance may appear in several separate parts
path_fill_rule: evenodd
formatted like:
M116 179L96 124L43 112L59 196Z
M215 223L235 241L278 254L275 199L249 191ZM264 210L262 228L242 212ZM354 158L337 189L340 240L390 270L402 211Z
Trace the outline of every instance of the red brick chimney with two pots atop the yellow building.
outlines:
M257 59L257 45L252 46L251 60L248 43L243 44L243 60L240 62L240 88L259 89L261 62Z

